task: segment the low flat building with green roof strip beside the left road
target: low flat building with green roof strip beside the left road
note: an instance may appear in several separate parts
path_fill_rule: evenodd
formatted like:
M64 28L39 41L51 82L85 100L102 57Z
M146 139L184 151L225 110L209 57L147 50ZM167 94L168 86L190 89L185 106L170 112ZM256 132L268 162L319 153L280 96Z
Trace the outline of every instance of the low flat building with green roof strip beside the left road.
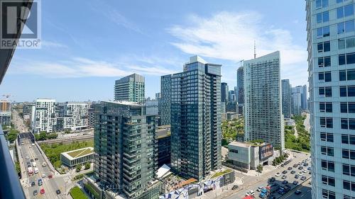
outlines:
M94 148L86 147L82 149L72 150L70 152L62 152L60 154L60 161L62 164L72 168L78 164L92 162L94 159Z

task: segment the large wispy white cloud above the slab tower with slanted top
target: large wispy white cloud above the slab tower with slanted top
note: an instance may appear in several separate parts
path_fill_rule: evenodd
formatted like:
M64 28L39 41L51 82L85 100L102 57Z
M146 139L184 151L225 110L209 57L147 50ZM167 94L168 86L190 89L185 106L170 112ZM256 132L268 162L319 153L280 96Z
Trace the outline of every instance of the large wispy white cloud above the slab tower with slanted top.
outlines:
M268 26L262 19L263 16L253 11L220 12L209 18L192 15L187 18L187 25L173 25L168 28L168 33L178 38L172 45L182 52L226 59L236 63L234 69L240 66L241 59L253 58L255 40L258 56L280 50L282 78L289 78L295 84L305 84L306 47L295 44L290 31ZM300 69L301 72L297 74L283 73ZM226 79L235 79L235 74L224 71L223 67L222 72Z

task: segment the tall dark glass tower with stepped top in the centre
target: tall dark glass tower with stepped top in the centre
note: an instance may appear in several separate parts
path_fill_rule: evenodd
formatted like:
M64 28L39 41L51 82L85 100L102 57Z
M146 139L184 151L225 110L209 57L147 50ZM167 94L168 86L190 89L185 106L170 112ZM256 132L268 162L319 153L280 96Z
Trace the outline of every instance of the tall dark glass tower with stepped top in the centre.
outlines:
M221 65L190 57L171 76L171 166L201 181L221 162Z

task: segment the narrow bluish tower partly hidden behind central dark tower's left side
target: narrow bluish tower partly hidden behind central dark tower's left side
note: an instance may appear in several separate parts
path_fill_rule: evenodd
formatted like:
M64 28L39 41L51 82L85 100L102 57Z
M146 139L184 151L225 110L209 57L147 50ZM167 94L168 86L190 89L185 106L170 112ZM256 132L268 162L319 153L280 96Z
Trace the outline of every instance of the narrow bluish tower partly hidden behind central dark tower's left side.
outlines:
M160 101L158 101L158 112L161 125L170 125L171 115L171 74L160 76Z

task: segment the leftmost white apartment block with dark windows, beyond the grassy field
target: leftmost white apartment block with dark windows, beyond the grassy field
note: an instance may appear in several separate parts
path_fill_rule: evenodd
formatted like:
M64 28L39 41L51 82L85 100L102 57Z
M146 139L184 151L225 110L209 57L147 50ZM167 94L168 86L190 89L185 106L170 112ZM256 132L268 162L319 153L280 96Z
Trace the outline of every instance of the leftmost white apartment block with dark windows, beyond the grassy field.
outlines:
M57 125L55 99L36 99L33 109L32 130L34 132L53 132L55 125Z

